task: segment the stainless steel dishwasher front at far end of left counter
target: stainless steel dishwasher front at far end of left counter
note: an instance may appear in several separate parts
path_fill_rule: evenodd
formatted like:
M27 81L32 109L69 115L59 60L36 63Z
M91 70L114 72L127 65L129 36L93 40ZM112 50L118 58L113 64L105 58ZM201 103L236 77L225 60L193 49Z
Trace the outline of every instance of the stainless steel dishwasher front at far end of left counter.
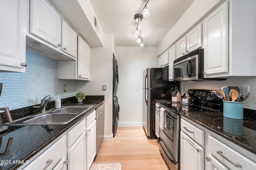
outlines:
M105 120L105 103L102 103L99 107L96 108L96 154L100 150L100 146L104 139L104 120Z

